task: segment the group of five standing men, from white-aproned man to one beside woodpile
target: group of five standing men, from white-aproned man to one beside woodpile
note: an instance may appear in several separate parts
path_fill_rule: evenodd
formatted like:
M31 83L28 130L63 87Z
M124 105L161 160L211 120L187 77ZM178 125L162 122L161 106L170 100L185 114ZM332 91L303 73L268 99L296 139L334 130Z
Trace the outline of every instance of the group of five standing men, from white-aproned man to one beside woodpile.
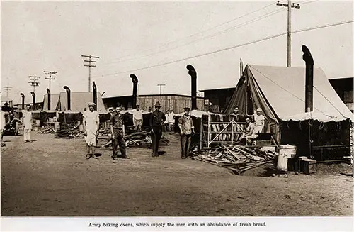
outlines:
M89 111L85 111L83 114L84 136L87 145L86 158L97 158L95 155L95 148L97 145L97 136L99 128L99 115L95 110L95 104L89 103ZM154 104L155 111L151 113L149 126L151 128L152 135L152 157L159 156L159 142L162 136L162 126L166 121L165 114L160 111L161 104L159 101ZM188 157L191 136L194 133L194 126L192 118L190 117L190 108L185 108L185 114L179 118L178 127L181 131L181 158ZM112 134L112 150L113 160L118 158L129 159L125 148L125 124L124 115L120 114L120 107L116 107L115 111L110 111L110 132ZM133 122L136 130L140 130L142 126L142 111L139 106L132 112ZM118 146L120 148L120 155L118 156Z

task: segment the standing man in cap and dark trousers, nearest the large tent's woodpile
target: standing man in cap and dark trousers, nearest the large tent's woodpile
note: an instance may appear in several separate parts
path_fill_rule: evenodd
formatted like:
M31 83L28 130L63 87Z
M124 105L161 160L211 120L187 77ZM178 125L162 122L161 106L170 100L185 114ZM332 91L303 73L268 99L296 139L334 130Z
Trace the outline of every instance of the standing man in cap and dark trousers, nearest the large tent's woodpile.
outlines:
M189 116L190 108L185 107L184 114L178 119L178 127L181 131L181 158L185 159L189 153L191 136L194 134L192 118Z

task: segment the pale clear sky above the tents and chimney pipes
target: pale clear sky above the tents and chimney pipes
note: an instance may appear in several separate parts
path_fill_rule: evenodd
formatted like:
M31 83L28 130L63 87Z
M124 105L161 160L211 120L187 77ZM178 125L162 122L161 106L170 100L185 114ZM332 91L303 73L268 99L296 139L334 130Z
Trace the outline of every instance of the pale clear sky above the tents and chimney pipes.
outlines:
M293 32L353 21L353 1L292 2L300 6L292 9ZM49 87L44 71L57 72L52 94L65 85L87 92L89 68L81 55L99 57L91 85L103 97L132 94L130 74L139 79L138 94L159 94L157 84L166 84L163 94L190 94L188 64L199 90L234 87L240 58L244 66L287 65L287 35L280 35L287 32L287 8L275 3L1 1L1 96L8 86L15 104L21 92L30 102L33 75L40 76L35 93L42 101ZM292 67L304 67L302 45L327 77L353 77L353 22L292 33Z

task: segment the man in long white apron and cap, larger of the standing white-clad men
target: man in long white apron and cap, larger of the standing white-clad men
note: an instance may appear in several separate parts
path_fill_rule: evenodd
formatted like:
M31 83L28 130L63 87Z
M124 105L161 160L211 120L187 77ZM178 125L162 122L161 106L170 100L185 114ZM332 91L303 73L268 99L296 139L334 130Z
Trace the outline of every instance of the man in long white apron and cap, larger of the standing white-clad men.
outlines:
M98 112L95 111L95 106L93 102L89 102L89 110L84 112L83 115L83 126L84 126L84 136L87 144L87 154L86 159L96 158L95 147L98 135L98 128L100 127L100 116Z

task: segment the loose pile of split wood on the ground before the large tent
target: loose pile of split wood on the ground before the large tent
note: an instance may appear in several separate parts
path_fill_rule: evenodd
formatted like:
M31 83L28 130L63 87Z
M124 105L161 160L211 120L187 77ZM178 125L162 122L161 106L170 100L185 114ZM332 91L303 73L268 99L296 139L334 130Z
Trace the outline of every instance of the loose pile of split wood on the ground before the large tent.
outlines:
M193 159L226 167L240 175L246 170L272 163L278 154L261 147L222 145L194 153Z

